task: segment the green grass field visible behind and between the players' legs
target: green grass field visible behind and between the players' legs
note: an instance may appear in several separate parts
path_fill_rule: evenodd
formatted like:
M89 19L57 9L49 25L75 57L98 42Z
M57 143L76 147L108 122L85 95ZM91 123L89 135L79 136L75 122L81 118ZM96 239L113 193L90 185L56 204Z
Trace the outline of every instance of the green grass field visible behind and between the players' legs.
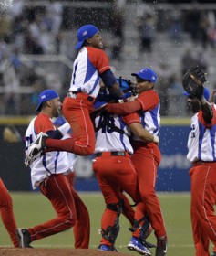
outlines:
M195 251L190 224L190 194L159 193L158 195L169 237L167 255L194 255ZM11 196L14 201L15 219L19 228L33 227L55 217L55 212L49 201L40 193L11 193ZM98 229L100 229L100 217L104 209L104 200L100 193L88 193L88 195L80 193L80 196L87 204L91 218L90 248L96 248L100 240ZM120 218L120 232L116 241L116 247L119 252L139 255L126 248L131 236L128 228L129 222L122 216ZM155 242L153 233L150 235L149 241ZM0 245L1 247L12 246L2 223L0 223ZM33 243L33 246L36 248L73 248L73 245L74 239L71 229ZM154 250L152 252L154 255Z

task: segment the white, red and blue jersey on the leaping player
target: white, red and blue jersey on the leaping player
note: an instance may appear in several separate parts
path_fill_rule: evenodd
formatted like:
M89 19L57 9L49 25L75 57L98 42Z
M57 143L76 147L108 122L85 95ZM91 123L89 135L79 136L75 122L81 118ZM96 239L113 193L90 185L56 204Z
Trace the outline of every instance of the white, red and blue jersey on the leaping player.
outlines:
M98 48L84 47L73 64L69 91L85 92L96 98L99 92L99 74L110 69L107 54Z

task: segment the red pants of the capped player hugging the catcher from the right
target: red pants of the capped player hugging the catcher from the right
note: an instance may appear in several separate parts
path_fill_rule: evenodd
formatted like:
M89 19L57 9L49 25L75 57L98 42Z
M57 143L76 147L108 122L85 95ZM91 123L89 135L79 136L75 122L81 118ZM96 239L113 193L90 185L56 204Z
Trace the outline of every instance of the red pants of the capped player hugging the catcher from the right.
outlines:
M134 145L134 154L131 159L135 165L139 180L139 193L144 202L145 208L139 206L135 211L135 219L140 219L140 212L147 211L152 228L157 238L166 236L165 224L160 208L159 198L155 192L155 184L161 155L156 144L146 146ZM134 234L136 236L136 234Z

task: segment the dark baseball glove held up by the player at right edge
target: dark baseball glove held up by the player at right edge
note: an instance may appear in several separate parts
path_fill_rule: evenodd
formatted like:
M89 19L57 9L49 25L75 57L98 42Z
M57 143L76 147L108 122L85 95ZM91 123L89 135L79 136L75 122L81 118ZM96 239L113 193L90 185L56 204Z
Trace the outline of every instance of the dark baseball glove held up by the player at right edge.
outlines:
M203 95L203 83L206 81L205 73L198 66L190 68L183 76L182 85L190 96L201 99Z

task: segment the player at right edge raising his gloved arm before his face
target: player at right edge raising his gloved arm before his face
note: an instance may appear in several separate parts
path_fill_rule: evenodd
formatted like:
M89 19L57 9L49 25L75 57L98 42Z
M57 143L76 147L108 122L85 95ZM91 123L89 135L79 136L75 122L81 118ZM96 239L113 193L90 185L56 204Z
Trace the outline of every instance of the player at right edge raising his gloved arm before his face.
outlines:
M204 88L201 98L190 96L186 91L183 94L188 96L188 106L194 114L190 124L187 158L193 165L190 168L190 218L195 255L207 256L210 255L210 240L214 248L216 246L216 106L208 102L210 91L207 88Z

